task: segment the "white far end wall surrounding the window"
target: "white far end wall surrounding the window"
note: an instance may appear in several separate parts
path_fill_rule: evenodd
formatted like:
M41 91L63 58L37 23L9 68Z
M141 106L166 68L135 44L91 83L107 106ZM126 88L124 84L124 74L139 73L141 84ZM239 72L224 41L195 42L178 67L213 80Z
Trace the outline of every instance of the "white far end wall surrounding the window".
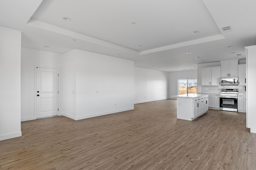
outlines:
M168 98L176 99L175 97L171 97L171 96L178 95L178 80L179 79L197 79L197 82L198 82L197 74L198 74L197 70L169 72L169 95L168 95Z

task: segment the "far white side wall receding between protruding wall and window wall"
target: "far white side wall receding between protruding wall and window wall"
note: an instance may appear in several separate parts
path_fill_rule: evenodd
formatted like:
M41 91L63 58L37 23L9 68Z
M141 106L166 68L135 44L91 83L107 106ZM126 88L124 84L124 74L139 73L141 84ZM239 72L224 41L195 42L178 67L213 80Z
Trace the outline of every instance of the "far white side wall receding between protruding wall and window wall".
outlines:
M134 67L134 104L167 99L168 72Z

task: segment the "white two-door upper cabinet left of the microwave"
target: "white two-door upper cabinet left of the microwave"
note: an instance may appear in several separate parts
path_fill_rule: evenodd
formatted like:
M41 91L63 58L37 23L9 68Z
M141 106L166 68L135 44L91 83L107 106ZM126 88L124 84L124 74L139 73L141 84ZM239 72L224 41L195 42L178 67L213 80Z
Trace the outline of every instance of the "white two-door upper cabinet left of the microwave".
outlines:
M202 68L202 86L220 86L220 66Z

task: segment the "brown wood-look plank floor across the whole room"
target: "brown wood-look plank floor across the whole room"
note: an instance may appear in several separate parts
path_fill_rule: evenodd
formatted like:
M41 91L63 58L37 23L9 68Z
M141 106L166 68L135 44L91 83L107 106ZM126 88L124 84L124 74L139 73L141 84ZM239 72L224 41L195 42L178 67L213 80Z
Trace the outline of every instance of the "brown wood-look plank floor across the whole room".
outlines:
M256 170L256 134L246 113L209 109L176 119L176 100L74 121L22 122L22 137L0 141L1 170Z

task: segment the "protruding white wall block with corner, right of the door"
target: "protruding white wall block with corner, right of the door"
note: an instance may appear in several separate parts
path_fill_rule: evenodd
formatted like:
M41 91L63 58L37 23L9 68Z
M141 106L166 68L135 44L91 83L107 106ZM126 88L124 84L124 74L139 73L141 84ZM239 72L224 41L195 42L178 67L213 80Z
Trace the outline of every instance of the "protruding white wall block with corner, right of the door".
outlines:
M75 60L70 67L69 61ZM74 73L75 86L64 85L74 74L64 72L70 69ZM72 96L74 91L76 109L62 98L62 115L72 119L85 119L120 111L134 109L134 62L74 50L65 54L62 63L62 91L64 96ZM65 106L65 107L64 107ZM70 113L71 111L71 113ZM73 113L75 111L75 113Z

